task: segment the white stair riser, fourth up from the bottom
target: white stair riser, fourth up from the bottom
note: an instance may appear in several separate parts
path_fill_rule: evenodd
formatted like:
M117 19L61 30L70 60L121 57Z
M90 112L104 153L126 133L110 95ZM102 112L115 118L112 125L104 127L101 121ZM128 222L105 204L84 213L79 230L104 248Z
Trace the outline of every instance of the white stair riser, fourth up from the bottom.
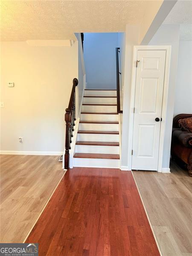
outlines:
M83 130L83 131L119 131L119 125L118 124L79 123L79 130Z

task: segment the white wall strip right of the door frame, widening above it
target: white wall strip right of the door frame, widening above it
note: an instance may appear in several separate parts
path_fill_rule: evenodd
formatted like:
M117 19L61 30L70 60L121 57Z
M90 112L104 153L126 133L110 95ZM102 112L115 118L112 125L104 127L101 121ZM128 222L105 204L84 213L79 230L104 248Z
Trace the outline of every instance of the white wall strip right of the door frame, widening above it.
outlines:
M179 25L161 25L149 43L149 45L171 45L172 47L169 72L168 102L166 111L166 128L163 148L163 168L169 168L170 162L179 36Z

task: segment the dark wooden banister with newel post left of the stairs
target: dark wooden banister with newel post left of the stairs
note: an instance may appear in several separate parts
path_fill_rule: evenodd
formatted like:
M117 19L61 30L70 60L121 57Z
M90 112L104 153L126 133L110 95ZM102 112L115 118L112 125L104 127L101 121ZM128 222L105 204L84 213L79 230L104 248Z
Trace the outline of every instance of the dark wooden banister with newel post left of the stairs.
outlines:
M73 137L73 131L76 120L76 86L78 80L73 79L73 87L70 96L70 102L68 108L65 110L65 122L66 122L66 131L65 131L65 156L64 156L64 168L69 169L69 150L70 144L72 142L71 138Z

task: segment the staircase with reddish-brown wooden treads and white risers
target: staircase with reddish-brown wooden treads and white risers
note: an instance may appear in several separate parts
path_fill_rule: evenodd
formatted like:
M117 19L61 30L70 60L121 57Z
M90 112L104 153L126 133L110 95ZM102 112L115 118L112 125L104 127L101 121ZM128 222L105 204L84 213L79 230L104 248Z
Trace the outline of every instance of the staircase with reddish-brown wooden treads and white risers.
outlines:
M119 168L116 90L85 90L73 166Z

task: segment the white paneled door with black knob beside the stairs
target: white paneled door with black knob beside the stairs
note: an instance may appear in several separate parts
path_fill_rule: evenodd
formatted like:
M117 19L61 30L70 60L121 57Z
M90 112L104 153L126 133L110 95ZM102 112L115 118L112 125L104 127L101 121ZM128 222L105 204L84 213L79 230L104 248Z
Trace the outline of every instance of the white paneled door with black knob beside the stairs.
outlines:
M157 171L166 50L138 50L132 169Z

